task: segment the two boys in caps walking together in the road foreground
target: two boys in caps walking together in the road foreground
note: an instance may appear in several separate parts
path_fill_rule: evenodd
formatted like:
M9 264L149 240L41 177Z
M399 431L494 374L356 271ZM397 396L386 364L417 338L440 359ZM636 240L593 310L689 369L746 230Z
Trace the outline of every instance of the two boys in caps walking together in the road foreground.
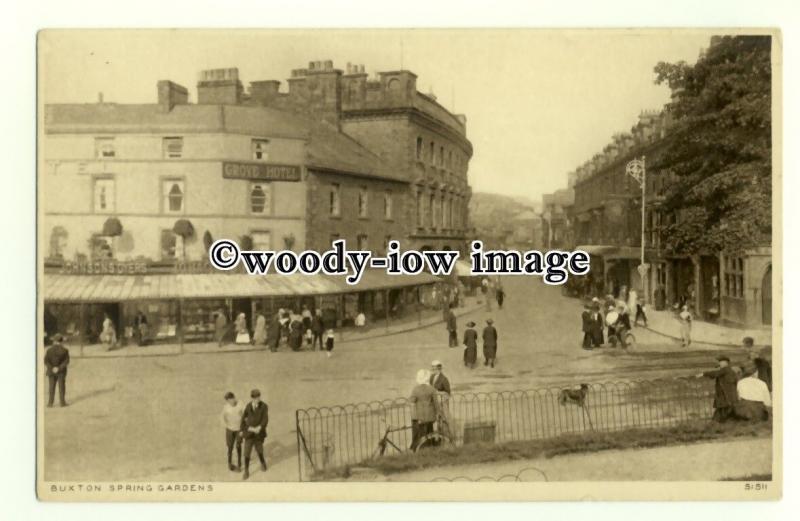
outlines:
M261 399L261 391L250 391L247 405L239 403L236 395L225 393L225 405L222 407L220 422L225 427L225 445L228 448L228 469L241 472L242 479L250 477L250 456L256 450L261 470L267 470L267 459L264 455L264 440L267 439L269 423L269 407ZM242 445L244 444L244 467L242 467ZM236 449L236 465L233 464L233 450Z

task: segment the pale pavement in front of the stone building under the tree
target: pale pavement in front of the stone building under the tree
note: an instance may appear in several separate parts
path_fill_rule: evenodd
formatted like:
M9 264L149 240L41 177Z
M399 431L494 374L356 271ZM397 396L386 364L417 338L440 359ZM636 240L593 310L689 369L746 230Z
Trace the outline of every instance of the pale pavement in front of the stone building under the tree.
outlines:
M673 311L656 311L647 308L647 329L680 342L680 322ZM772 329L728 327L711 322L692 322L692 342L719 347L739 347L742 339L752 337L756 346L772 345Z

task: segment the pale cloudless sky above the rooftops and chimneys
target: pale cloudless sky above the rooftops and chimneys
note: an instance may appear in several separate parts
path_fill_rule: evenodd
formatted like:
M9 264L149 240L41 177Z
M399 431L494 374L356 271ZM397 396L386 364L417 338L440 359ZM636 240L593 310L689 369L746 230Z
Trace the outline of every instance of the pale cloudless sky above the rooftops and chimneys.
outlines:
M693 63L710 32L623 30L76 30L40 33L45 103L155 103L156 82L237 67L245 86L309 61L404 68L417 89L467 117L473 191L526 196L563 188L567 173L659 109L659 61Z

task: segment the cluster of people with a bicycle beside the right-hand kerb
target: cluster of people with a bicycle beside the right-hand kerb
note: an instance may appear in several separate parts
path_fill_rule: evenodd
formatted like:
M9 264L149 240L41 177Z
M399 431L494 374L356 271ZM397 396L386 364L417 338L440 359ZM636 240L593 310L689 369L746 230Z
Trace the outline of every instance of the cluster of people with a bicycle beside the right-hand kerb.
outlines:
M631 316L633 316L632 321ZM647 315L636 290L628 291L622 286L617 298L606 295L603 300L597 297L586 300L581 313L583 332L581 347L583 349L602 347L606 339L609 342L614 340L622 342L622 334L637 326L640 320L647 327Z

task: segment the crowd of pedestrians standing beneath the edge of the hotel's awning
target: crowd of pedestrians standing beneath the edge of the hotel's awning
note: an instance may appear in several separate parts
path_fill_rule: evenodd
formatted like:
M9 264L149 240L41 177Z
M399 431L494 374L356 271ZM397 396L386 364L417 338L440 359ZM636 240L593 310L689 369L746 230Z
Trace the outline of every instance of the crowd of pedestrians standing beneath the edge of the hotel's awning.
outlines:
M252 331L248 327L247 315L240 312L232 324L233 338L236 344L251 344L266 346L275 352L283 343L293 351L300 351L304 345L306 349L324 351L331 356L334 347L335 333L334 319L323 317L321 309L313 313L308 306L303 306L297 314L293 310L279 309L267 324L267 317L263 313L256 314ZM219 347L225 344L231 326L225 311L217 310L214 318L215 340Z

